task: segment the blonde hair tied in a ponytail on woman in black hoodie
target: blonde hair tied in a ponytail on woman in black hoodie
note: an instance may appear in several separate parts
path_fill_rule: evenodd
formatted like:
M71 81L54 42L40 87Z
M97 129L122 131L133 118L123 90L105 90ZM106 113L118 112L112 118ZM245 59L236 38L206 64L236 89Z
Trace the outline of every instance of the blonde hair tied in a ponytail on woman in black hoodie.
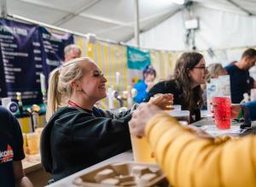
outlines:
M68 98L73 94L71 83L79 81L84 76L84 68L80 65L82 61L83 63L84 61L92 62L88 57L72 59L50 73L46 111L47 122L58 108L67 105Z

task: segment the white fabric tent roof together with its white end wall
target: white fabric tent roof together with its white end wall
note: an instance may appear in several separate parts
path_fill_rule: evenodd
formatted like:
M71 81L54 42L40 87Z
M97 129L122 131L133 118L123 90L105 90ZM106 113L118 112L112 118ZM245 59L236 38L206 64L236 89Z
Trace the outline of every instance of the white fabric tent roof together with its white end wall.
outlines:
M256 0L194 0L197 49L256 45ZM183 5L139 0L141 47L186 50ZM134 0L8 0L8 14L133 44Z

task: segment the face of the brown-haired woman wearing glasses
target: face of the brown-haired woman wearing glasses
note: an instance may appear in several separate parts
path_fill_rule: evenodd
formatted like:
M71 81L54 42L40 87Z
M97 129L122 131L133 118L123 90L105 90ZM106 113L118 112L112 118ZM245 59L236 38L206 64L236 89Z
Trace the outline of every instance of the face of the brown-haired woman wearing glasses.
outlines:
M189 70L189 77L191 82L197 86L206 83L206 61L202 58L197 65Z

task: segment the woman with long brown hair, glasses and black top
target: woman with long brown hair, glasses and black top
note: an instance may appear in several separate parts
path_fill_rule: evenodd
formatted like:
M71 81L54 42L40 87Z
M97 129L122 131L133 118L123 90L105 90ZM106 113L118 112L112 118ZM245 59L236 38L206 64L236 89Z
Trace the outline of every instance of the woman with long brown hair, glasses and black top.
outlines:
M190 111L190 122L201 119L203 105L201 84L206 83L206 62L202 54L184 53L179 59L171 80L158 82L149 90L148 101L155 94L173 94L173 104L182 105L182 110Z

